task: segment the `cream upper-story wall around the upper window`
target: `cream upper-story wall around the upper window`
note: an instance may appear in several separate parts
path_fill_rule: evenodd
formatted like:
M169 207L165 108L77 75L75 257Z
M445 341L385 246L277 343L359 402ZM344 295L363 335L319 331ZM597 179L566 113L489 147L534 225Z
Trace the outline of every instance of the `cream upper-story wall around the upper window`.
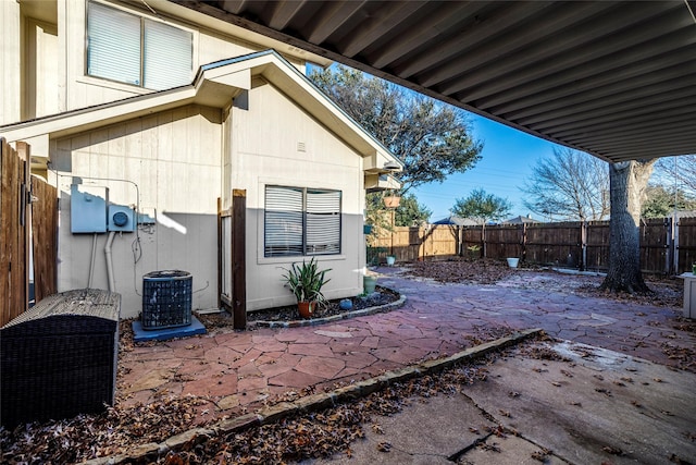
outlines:
M161 5L152 2L158 11L158 15L154 15L145 7L136 9L133 3L98 1L153 21L165 21L169 25L192 33L191 79L203 64L270 48L269 45L234 37L227 30L215 29L215 25L208 27L191 22L190 17L184 17L194 14L190 10L171 2L166 2L166 12L158 11ZM88 1L46 0L45 4L46 8L57 7L54 24L27 16L22 11L21 2L0 2L0 21L3 25L0 125L152 91L86 75ZM303 60L297 57L289 59L296 68L304 71Z

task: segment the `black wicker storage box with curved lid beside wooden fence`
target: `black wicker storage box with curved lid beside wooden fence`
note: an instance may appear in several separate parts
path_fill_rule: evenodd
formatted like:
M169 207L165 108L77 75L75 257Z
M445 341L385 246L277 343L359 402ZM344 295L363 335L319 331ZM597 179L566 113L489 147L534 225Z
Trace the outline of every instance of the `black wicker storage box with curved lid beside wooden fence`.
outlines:
M121 295L96 289L40 301L0 329L0 424L113 405Z

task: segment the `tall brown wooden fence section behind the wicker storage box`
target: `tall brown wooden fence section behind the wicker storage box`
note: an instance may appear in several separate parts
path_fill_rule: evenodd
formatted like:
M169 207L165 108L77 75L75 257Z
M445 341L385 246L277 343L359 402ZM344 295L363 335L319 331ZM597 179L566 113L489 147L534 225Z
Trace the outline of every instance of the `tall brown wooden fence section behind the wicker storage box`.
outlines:
M36 302L55 292L57 189L30 175L29 160L27 144L0 138L0 327L28 308L32 269Z

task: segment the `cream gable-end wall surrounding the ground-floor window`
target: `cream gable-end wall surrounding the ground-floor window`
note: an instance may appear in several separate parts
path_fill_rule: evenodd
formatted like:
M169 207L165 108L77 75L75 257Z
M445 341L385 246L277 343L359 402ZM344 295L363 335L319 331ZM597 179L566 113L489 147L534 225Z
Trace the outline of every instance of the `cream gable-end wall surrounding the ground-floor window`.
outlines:
M303 258L264 257L265 185L343 193L341 254L316 259L320 269L332 269L324 292L327 298L360 294L365 254L362 157L273 85L260 81L247 96L236 99L225 127L231 145L225 205L229 205L233 188L247 191L247 310L295 303L283 286L283 268Z

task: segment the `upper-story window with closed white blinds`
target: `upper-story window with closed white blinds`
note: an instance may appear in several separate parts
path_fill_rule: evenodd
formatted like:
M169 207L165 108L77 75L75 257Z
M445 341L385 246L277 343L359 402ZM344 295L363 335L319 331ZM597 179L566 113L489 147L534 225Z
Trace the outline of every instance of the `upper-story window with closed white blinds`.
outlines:
M157 21L90 2L87 74L162 90L189 84L194 36Z

